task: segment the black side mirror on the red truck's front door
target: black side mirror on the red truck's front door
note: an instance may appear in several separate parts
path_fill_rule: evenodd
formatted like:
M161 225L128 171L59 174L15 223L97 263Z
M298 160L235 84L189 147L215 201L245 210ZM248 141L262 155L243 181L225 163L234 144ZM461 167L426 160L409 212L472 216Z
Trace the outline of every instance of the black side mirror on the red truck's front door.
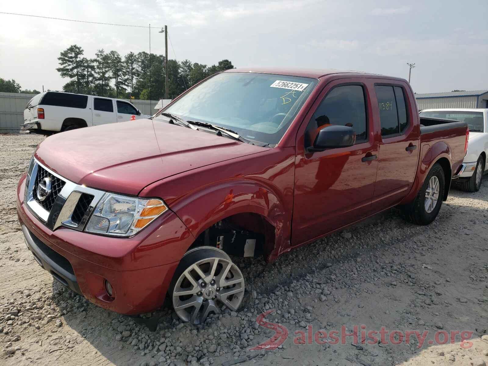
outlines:
M325 125L315 137L313 146L308 151L324 151L338 147L348 147L356 142L356 133L352 127L337 124Z

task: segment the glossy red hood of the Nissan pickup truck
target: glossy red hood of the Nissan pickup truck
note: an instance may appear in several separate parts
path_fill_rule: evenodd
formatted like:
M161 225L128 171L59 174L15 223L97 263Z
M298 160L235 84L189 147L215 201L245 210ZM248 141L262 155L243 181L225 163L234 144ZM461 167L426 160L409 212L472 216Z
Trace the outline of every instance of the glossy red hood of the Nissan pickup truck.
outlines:
M50 136L35 157L72 182L138 195L166 177L266 150L175 124L136 120Z

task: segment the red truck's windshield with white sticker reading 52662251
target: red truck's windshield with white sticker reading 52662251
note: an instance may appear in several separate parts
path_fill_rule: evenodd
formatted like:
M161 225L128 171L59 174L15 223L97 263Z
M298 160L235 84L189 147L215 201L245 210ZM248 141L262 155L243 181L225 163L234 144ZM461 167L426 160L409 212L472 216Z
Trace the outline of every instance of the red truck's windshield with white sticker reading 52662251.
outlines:
M164 112L272 145L283 137L317 82L296 76L225 72L189 91Z

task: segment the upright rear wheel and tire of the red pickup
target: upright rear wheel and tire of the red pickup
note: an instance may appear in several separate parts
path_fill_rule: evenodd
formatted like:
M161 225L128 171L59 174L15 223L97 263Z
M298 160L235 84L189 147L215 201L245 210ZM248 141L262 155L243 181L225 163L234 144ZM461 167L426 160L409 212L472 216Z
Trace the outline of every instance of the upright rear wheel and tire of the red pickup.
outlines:
M434 221L441 209L445 184L444 170L440 164L435 163L415 201L403 207L406 219L418 225L428 225Z

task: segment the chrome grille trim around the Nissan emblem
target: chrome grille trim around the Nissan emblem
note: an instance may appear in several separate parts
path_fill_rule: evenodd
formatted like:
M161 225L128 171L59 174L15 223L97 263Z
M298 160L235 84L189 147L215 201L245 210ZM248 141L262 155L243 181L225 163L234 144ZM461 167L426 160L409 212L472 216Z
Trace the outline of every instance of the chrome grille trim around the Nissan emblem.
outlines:
M88 218L90 217L98 202L102 199L102 196L105 194L105 192L73 183L61 177L59 174L53 172L51 169L47 168L43 164L39 163L39 161L37 161L36 159L33 160L34 167L28 180L27 195L25 199L25 203L27 204L29 209L51 230L56 230L60 226L65 226L71 229L82 231L86 222L88 221ZM36 177L39 171L39 167L45 169L47 172L49 172L49 174L65 182L50 211L47 211L34 198L34 186L37 181ZM93 199L89 203L88 208L86 209L80 222L75 223L71 220L71 217L83 193L93 196Z

